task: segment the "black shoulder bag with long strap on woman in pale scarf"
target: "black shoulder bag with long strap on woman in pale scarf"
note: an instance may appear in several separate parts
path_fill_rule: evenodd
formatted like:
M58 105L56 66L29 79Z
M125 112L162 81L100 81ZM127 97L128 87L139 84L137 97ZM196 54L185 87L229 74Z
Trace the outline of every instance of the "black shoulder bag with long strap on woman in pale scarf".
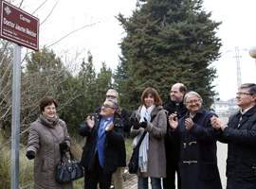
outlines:
M137 146L134 148L130 162L128 163L128 170L130 174L137 174L137 168L138 168L138 152L139 152L139 146L142 143L142 140L144 136L146 135L147 131L144 131L142 136L140 137Z

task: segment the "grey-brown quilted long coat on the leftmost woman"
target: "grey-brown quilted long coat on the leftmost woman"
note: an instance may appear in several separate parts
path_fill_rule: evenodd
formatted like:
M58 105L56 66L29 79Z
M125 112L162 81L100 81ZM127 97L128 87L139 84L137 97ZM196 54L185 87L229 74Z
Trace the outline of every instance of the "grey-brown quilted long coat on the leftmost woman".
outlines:
M63 120L49 124L41 115L28 129L27 151L35 152L34 188L35 189L72 189L72 182L60 184L55 180L55 167L60 162L59 144L66 141L70 146L70 138Z

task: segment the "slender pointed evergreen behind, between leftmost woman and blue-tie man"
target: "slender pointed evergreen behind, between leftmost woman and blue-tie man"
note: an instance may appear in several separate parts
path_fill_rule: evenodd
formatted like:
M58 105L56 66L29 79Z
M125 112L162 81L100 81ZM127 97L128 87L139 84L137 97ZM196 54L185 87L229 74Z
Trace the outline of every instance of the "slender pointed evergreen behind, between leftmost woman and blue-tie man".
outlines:
M78 126L85 120L86 116L96 109L95 90L96 72L93 66L93 56L87 52L87 61L82 60L81 69L73 78L74 92L76 98L69 106L64 107L60 115L68 125L70 133L78 133ZM70 86L65 90L70 90Z

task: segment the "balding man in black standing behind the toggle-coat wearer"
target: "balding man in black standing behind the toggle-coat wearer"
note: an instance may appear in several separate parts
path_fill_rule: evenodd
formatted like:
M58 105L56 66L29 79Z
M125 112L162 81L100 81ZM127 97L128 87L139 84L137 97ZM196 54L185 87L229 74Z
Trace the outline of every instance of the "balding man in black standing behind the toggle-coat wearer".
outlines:
M182 83L175 83L170 91L170 98L164 105L164 110L168 116L172 113L177 114L178 119L188 112L183 103L183 98L187 93L187 88ZM167 116L167 117L168 117ZM167 118L168 119L168 118ZM169 136L169 122L167 122L167 134L165 136L165 153L166 153L166 178L163 179L164 189L175 189L175 173L177 173L178 189L181 189L181 181L178 170L179 161L179 142L178 137Z

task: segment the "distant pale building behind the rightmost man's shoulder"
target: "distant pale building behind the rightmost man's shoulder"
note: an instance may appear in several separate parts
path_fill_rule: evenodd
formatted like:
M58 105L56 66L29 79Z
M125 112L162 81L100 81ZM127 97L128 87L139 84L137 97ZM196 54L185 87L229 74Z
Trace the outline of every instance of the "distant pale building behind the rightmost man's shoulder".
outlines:
M236 98L231 98L227 101L216 100L210 108L220 117L229 116L238 110Z

